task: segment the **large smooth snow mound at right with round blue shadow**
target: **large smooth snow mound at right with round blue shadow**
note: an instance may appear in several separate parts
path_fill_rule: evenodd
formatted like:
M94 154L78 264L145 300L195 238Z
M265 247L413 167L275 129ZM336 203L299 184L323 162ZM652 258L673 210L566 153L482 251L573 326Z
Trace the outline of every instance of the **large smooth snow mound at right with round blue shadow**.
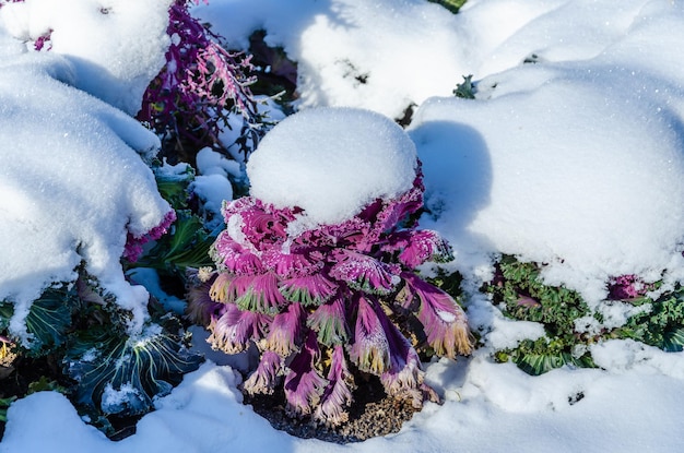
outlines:
M611 59L511 69L480 82L483 99L416 112L432 227L464 267L472 253L517 254L588 301L611 276L682 276L684 96Z

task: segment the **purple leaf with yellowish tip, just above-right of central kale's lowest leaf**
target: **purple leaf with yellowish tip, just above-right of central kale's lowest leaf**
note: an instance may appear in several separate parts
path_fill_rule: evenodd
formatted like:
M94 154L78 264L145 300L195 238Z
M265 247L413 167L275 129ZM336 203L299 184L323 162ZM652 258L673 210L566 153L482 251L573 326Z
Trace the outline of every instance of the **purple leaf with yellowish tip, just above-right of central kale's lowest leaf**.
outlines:
M372 303L359 296L356 302L354 343L349 353L359 370L380 375L389 369L390 349L385 329Z

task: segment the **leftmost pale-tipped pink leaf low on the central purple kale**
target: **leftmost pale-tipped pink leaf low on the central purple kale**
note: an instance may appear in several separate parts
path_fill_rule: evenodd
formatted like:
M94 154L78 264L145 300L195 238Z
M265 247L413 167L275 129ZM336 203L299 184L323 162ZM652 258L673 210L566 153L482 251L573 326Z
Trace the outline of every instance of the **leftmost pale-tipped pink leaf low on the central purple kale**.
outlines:
M226 303L221 317L213 317L209 324L211 335L207 342L213 349L227 354L238 354L247 349L250 341L258 341L271 322L271 317L252 311L243 311L233 303Z

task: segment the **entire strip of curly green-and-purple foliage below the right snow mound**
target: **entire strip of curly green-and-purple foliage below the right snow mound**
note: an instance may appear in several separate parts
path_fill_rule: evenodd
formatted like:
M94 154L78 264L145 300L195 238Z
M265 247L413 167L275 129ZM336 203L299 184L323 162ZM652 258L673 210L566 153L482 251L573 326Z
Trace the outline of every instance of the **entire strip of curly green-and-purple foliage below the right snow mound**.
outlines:
M590 345L608 338L632 338L667 351L684 349L684 290L676 286L658 298L648 297L659 284L645 284L636 275L608 282L604 307L623 305L630 314L621 325L605 320L601 310L590 309L581 296L562 286L545 284L541 265L503 255L495 278L485 290L505 315L539 322L545 335L523 339L517 347L498 350L500 361L511 360L530 374L542 374L571 365L594 367ZM587 330L587 320L593 329Z

